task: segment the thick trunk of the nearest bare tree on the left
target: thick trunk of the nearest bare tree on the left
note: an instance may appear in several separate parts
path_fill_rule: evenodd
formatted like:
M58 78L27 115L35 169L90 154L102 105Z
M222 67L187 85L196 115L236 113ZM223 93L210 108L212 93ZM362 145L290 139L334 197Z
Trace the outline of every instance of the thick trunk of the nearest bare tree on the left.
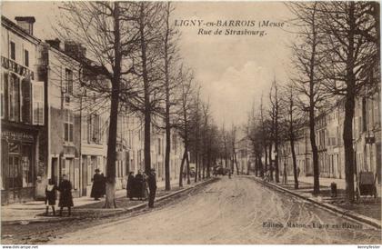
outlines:
M115 21L115 71L112 79L112 96L110 104L110 124L109 137L107 142L107 161L106 161L106 200L104 208L116 207L116 131L118 119L120 77L121 77L121 47L120 47L120 30L119 30L119 4L115 3L113 13Z

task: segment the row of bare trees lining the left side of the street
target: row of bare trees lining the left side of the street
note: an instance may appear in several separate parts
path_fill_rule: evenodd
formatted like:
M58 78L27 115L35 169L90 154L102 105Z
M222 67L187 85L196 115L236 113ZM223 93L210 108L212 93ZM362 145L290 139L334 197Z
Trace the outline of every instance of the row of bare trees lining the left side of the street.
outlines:
M196 162L195 181L209 177L220 137L209 103L203 101L193 72L179 55L179 31L172 25L169 2L65 2L56 34L82 47L71 53L81 66L76 99L100 106L109 114L106 162L106 207L115 207L116 137L118 115L135 115L144 127L144 162L151 164L153 129L166 134L166 190L170 184L171 134L183 139L179 185L190 158ZM78 53L85 51L85 53ZM70 60L64 60L70 63ZM89 93L93 97L89 98ZM84 106L84 105L83 105ZM154 128L153 128L154 127Z

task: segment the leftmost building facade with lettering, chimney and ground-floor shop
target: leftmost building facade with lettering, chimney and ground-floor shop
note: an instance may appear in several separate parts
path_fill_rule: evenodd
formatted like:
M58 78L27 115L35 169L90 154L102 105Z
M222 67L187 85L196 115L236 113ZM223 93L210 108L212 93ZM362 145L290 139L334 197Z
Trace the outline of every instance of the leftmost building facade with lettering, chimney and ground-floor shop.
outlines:
M45 172L45 85L34 17L2 16L2 204L34 199Z

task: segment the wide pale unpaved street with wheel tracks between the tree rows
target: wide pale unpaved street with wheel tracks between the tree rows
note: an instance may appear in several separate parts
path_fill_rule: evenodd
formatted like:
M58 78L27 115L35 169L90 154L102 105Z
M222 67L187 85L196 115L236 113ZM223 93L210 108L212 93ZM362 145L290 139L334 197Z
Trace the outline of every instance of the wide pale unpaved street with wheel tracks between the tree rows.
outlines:
M51 243L380 244L381 232L236 176L175 204L64 234Z

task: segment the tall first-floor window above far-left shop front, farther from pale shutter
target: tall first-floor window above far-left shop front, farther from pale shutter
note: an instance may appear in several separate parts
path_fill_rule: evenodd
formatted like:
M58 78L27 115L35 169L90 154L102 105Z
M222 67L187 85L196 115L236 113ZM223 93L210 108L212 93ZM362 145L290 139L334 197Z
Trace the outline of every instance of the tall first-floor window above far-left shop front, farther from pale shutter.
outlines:
M14 74L9 82L9 120L18 122L20 117L20 80Z

